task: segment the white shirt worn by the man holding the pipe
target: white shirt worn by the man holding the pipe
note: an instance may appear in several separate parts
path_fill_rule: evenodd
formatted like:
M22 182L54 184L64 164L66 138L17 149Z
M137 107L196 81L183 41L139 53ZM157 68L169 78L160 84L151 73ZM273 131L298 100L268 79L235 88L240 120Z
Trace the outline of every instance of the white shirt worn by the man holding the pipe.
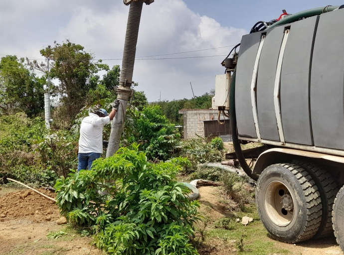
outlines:
M80 126L79 153L103 153L103 127L110 117L99 117L90 113Z

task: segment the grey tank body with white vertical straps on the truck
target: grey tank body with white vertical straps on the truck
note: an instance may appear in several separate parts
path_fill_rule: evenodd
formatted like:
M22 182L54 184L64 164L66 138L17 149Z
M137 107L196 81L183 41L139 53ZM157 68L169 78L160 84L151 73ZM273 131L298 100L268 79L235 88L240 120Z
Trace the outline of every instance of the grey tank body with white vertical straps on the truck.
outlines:
M338 10L242 37L239 139L344 155L343 23Z

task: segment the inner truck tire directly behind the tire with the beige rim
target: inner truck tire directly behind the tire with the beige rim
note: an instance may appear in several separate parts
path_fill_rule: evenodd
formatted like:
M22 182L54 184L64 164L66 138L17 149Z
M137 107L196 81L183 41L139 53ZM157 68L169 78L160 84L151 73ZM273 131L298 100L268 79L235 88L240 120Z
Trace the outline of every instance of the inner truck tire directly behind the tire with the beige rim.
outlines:
M339 190L337 183L332 178L332 175L318 164L305 161L293 161L293 163L304 168L312 176L320 193L323 215L318 233L314 238L323 238L332 235L334 232L332 226L332 209Z

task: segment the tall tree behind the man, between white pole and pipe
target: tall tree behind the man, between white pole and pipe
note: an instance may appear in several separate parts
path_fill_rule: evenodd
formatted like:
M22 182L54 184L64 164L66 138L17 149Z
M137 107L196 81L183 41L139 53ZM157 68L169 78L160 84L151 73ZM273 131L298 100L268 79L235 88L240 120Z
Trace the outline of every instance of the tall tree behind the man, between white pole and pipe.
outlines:
M71 123L84 106L89 90L95 89L91 78L100 70L108 71L109 66L102 64L101 60L94 62L93 54L69 40L62 44L55 43L54 47L48 46L40 53L53 61L50 76L59 80L62 113Z

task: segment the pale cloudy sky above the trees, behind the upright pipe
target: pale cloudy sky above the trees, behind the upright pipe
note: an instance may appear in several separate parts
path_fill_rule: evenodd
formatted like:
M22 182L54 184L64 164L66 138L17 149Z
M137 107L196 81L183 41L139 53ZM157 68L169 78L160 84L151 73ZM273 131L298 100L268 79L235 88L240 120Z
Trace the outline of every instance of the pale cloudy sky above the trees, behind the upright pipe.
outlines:
M29 2L0 0L4 6L0 9L0 22L6 24L0 28L0 54L39 57L39 50L54 40L70 39L94 52L97 59L122 57L129 6L121 0ZM235 45L246 33L244 29L200 16L188 9L182 0L156 0L143 6L137 56ZM225 55L230 49L165 57ZM138 89L145 91L150 101L159 99L160 91L162 99L190 98L189 82L223 73L224 68L220 66L222 58L137 60L133 80L139 82ZM104 62L110 66L121 64L121 61ZM198 96L214 87L214 79L197 81L192 85Z

